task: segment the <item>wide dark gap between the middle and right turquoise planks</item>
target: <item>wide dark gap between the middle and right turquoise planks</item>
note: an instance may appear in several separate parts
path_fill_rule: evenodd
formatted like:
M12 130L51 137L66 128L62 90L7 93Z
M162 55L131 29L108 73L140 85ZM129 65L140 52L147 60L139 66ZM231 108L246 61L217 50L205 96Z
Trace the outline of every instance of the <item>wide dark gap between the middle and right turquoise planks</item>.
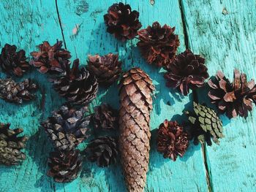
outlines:
M186 49L189 49L189 35L187 32L187 20L184 14L184 5L182 3L183 0L178 0L178 4L179 4L179 8L181 9L181 20L182 20L182 26L183 26L183 32L184 32L184 42L185 42L185 46ZM192 91L192 98L193 101L198 102L198 96L197 96L197 91ZM203 163L205 166L205 170L206 170L206 183L208 185L208 191L211 192L212 190L212 184L211 184L211 174L209 173L209 169L208 169L208 163L207 163L207 155L206 155L206 145L203 144L201 145L201 150L202 150L202 155L203 155Z

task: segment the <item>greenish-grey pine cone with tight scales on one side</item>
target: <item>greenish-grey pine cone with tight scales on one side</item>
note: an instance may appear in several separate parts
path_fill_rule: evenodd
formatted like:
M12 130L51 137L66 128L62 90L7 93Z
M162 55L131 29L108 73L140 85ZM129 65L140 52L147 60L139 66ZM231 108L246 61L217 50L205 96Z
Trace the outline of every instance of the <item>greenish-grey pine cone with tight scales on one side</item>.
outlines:
M222 134L222 121L219 120L214 110L194 102L194 111L186 113L191 123L190 135L194 137L195 145L198 145L198 142L211 145L211 138L219 145L219 138L224 135Z

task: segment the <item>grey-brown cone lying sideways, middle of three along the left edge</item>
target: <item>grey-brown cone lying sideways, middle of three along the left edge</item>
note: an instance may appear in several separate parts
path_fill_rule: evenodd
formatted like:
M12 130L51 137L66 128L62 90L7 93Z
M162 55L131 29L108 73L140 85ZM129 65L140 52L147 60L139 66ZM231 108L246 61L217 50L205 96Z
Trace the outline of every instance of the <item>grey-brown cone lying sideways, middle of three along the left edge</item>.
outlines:
M0 98L5 101L22 104L23 101L30 101L35 98L31 91L36 91L37 85L30 79L22 82L15 82L11 78L0 79Z

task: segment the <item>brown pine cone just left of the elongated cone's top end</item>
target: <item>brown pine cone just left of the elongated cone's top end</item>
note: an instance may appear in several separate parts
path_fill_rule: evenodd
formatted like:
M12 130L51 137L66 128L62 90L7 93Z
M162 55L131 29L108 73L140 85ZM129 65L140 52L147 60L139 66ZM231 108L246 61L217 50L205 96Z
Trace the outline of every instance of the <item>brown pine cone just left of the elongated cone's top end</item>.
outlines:
M121 62L118 61L118 55L113 53L104 56L90 55L86 69L95 75L99 85L108 87L118 80L121 74Z

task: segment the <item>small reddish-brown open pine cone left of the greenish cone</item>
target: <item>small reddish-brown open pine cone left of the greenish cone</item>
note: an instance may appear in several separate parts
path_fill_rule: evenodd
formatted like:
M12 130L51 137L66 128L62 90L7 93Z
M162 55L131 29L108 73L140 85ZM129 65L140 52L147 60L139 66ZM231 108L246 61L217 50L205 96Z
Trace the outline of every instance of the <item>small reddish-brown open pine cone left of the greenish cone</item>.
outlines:
M178 155L181 157L189 147L189 139L184 128L176 121L165 120L159 126L157 134L157 150L164 153L164 158L176 161Z

